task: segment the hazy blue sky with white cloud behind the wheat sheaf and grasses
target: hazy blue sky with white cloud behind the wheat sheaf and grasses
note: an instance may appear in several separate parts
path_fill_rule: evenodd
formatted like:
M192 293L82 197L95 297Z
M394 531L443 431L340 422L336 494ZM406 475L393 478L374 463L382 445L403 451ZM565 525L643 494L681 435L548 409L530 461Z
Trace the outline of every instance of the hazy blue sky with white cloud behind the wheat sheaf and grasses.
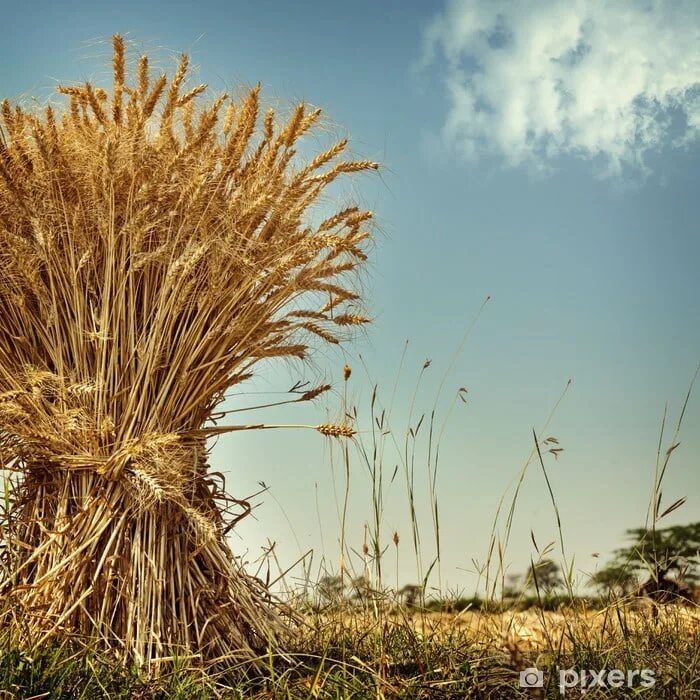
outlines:
M277 395L267 392L297 380L329 380L335 391L325 403L256 411L255 420L315 424L342 415L345 400L357 406L367 443L379 386L393 426L383 453L381 525L389 585L421 573L401 462L427 359L413 424L434 406L436 424L445 419L444 432L436 430L441 559L432 586L474 592L499 500L506 494L507 510L533 429L563 448L556 459L546 453L544 464L563 556L573 559L581 584L625 543L626 529L644 524L665 406L663 449L700 361L694 0L1 7L0 97L43 102L58 82L107 83L109 37L120 32L132 60L148 51L172 70L180 52L190 53L193 82L208 83L212 94L260 81L271 103L322 107L332 133L350 136L354 154L382 164L378 175L338 193L376 214L363 278L374 323L341 349L319 348L310 367L265 369L228 405L268 401ZM353 368L347 387L345 363ZM466 403L455 403L460 387ZM435 551L426 426L414 462L423 573ZM662 509L687 501L661 525L700 519L699 428L696 392L675 440L681 445ZM229 490L245 497L258 482L269 487L237 528L235 551L254 562L274 542L283 570L309 550L312 576L322 563L337 569L339 457L313 431L221 438L212 468L226 474ZM372 517L371 481L353 453L348 548L361 551ZM502 515L496 528L503 536ZM554 508L533 462L518 494L508 570L522 572L538 556L535 543L542 551L550 542L561 560Z

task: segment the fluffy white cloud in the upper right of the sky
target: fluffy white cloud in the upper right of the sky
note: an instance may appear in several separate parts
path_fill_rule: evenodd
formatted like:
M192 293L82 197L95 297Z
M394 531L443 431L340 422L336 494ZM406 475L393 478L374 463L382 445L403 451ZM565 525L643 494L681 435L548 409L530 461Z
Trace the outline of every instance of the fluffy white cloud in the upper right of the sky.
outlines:
M424 61L443 70L442 137L468 159L619 174L700 136L697 0L448 0Z

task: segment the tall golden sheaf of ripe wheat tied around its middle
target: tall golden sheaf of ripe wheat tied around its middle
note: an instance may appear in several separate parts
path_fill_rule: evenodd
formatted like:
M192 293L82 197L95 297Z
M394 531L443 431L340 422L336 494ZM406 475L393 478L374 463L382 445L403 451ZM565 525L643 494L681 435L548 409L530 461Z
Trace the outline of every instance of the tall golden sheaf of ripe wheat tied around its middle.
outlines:
M110 93L2 103L0 595L35 643L245 661L284 625L226 540L208 426L261 360L364 321L348 304L370 214L309 212L376 165L338 161L345 141L298 164L319 110L261 120L259 87L198 106L186 56L169 81L142 57L129 85L113 43Z

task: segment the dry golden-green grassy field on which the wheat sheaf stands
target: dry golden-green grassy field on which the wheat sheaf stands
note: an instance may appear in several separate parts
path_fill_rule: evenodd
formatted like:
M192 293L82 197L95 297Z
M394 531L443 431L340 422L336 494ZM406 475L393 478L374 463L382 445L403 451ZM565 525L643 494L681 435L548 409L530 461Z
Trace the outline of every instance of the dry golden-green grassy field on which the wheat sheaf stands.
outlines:
M654 612L655 611L655 612ZM700 613L642 602L600 610L457 614L394 608L308 613L287 658L243 678L186 659L159 679L99 654L4 653L2 698L555 698L560 669L653 669L650 688L591 688L587 697L692 698L700 693ZM542 689L520 671L544 672ZM567 694L580 696L580 679ZM590 682L590 680L588 681Z

